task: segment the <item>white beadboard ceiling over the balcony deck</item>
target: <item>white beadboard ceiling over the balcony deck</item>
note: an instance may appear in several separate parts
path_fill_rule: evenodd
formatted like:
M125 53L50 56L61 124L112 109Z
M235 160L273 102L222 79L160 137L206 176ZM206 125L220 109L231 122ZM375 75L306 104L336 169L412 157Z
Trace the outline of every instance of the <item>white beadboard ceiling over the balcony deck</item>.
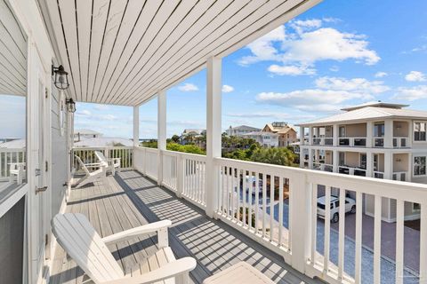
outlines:
M320 0L38 0L77 101L138 106Z

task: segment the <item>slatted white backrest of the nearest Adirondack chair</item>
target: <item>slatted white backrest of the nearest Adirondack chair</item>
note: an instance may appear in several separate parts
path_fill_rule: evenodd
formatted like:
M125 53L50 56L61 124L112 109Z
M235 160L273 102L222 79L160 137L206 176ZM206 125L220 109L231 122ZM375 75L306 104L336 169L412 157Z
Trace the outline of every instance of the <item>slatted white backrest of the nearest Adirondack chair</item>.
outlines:
M58 243L95 283L125 276L116 259L83 214L58 214L52 219Z

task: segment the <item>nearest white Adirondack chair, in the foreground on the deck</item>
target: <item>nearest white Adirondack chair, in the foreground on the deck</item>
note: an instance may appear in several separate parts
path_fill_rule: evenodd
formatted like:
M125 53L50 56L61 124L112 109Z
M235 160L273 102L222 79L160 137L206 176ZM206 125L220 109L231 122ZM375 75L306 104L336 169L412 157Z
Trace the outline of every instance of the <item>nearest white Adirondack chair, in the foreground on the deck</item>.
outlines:
M58 243L74 259L96 284L143 284L165 280L165 283L188 283L189 272L196 267L192 257L175 259L168 247L167 227L169 220L141 225L121 233L101 238L83 214L58 214L52 219L52 231ZM127 241L147 233L157 232L157 260L163 259L158 267L141 264L149 272L141 275L125 275L107 245L117 241ZM151 262L150 262L151 264Z

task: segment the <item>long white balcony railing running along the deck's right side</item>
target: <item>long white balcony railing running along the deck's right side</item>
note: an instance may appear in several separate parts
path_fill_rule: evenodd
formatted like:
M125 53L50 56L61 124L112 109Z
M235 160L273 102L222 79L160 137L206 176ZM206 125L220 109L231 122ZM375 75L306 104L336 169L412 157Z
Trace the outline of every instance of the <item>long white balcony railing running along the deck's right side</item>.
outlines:
M216 199L206 200L203 176L210 173L205 171L205 156L170 151L159 153L157 149L142 147L136 147L134 151L135 170L155 177L158 170L155 161L158 158L163 159L164 163L172 162L172 165L163 165L162 185L201 209L205 209L206 202L214 202L209 205L214 204L215 215L223 222L274 250L295 269L330 283L360 283L362 262L372 262L372 259L374 282L380 283L383 265L383 198L396 201L397 283L402 283L404 277L405 202L421 204L420 238L427 238L427 185L214 158L214 167L218 170L215 171L218 173L218 184L214 189ZM329 206L325 207L326 220L332 219L335 213L339 214L337 231L331 230L330 222L318 221L320 192L325 194L326 204L330 203L332 192L338 195L341 204L345 203L348 194L355 197L357 210L354 241L349 243L344 233L347 221L341 217L345 216L344 206L339 207L339 212L333 212ZM362 202L367 194L375 202L373 256L369 259L365 252L362 253L362 235L367 230L362 226ZM350 265L349 255L352 256ZM418 257L419 277L425 280L426 241L420 241ZM347 271L349 266L354 267L354 270Z

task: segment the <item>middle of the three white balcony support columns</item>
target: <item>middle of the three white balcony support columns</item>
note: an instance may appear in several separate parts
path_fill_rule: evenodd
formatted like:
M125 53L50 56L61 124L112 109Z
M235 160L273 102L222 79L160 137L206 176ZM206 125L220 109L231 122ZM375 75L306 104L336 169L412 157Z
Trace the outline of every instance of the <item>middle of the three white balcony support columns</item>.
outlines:
M163 151L166 150L166 91L157 94L157 185L163 182Z

